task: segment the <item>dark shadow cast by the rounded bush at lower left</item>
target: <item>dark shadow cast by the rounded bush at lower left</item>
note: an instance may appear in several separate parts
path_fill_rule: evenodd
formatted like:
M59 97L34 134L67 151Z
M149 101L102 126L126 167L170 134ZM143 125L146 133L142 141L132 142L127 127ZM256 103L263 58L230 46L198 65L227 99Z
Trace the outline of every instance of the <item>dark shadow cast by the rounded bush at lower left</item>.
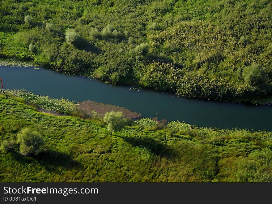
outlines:
M56 167L80 169L83 166L68 154L53 150L41 151L38 154L31 154L29 157L23 156L19 152L13 152L12 155L20 163L38 163L48 171L54 171Z

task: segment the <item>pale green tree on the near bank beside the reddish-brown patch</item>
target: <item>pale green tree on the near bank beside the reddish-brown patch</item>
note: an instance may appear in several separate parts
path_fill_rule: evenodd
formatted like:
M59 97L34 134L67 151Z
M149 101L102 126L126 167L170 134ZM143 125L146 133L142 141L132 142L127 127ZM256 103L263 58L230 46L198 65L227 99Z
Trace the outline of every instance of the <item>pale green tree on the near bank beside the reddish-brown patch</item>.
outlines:
M120 131L127 124L127 119L122 111L111 111L105 113L104 121L108 124L107 128L112 134L113 132Z

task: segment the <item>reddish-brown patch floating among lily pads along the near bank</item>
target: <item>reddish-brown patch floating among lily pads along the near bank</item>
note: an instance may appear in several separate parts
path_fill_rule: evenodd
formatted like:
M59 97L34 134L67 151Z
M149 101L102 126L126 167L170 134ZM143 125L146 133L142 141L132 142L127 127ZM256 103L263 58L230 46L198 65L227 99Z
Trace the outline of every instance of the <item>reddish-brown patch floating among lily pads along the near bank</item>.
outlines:
M139 118L139 117L141 117L140 113L132 112L129 109L119 107L119 106L114 106L114 105L108 105L108 104L104 104L104 103L98 103L95 101L78 102L77 107L81 111L83 111L87 114L92 111L96 111L101 116L104 116L106 112L122 111L126 118Z

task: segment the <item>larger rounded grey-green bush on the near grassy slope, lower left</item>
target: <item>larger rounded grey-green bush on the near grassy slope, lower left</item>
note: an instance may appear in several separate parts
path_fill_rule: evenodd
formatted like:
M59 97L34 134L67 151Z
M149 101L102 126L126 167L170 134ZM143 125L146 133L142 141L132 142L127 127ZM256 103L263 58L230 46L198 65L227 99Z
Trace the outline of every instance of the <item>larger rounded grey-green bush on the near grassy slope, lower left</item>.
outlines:
M45 145L41 135L36 131L30 132L28 128L23 128L21 133L17 134L17 143L20 144L20 153L23 155L34 154L40 146Z

